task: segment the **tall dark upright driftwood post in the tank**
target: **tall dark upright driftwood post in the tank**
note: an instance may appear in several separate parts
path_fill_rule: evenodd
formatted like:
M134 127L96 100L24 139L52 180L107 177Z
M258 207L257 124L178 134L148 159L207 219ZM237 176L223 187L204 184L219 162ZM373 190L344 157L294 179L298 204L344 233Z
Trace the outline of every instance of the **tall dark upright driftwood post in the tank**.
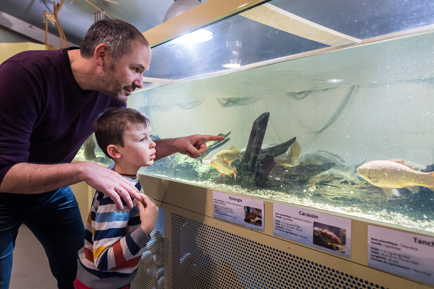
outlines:
M256 160L261 151L269 117L270 113L264 112L253 121L252 131L250 132L246 151L241 160L241 162L245 164L245 168L250 172L255 172L256 170Z

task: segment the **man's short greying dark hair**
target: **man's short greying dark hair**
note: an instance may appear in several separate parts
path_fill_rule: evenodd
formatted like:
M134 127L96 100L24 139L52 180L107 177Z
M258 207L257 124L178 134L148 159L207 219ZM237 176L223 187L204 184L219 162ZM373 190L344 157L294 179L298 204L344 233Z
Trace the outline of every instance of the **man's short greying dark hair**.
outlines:
M125 53L131 52L131 41L138 40L149 46L148 40L134 26L119 19L100 20L93 23L80 46L84 58L92 57L96 46L104 43L109 48L113 61L117 62Z

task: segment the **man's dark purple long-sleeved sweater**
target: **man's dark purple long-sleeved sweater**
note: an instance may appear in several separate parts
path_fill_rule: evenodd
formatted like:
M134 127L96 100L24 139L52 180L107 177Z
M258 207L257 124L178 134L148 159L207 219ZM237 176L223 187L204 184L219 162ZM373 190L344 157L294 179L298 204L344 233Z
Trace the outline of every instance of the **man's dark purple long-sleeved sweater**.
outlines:
M25 51L0 65L0 184L16 163L72 162L96 117L126 105L83 92L63 50Z

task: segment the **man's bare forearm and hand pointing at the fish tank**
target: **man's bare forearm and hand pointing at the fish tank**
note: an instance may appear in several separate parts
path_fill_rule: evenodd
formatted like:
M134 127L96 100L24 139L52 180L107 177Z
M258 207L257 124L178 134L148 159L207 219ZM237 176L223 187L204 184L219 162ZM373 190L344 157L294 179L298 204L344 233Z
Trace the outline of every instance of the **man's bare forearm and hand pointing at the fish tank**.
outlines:
M200 158L208 151L205 142L211 140L224 140L224 137L194 134L174 139L157 140L155 142L155 160L165 158L173 153L182 153L193 159Z

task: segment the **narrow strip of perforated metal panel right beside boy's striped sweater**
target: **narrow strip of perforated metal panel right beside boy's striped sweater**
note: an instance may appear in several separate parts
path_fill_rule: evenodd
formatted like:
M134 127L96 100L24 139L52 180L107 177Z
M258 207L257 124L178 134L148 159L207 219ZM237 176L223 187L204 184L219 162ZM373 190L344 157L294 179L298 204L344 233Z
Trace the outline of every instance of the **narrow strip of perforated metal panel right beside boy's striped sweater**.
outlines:
M159 208L155 229L146 251L141 256L132 289L162 289L164 287L164 211Z

